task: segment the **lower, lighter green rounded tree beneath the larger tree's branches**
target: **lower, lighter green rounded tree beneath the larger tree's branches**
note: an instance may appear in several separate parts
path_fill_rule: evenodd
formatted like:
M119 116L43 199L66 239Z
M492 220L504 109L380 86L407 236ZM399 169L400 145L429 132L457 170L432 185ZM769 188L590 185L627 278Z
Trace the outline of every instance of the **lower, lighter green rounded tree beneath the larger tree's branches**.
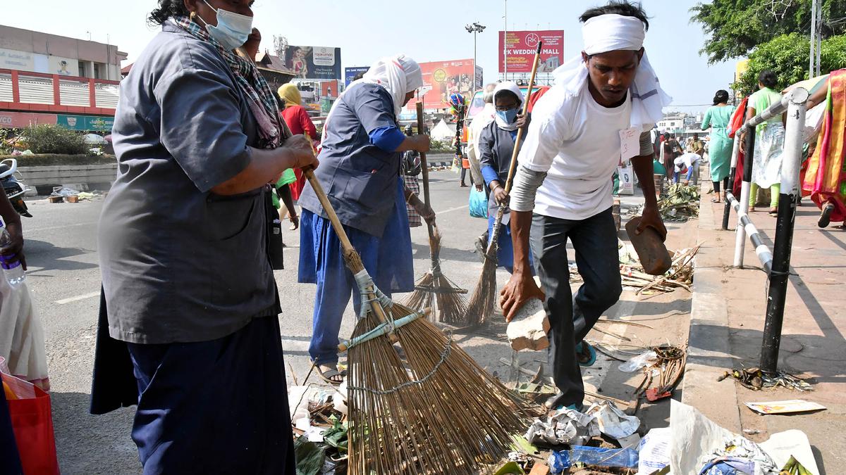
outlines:
M846 35L832 36L822 41L821 70L824 73L846 68ZM749 57L749 69L734 85L734 89L748 96L758 85L758 74L772 70L778 78L779 90L808 79L810 39L799 33L781 35L755 50Z

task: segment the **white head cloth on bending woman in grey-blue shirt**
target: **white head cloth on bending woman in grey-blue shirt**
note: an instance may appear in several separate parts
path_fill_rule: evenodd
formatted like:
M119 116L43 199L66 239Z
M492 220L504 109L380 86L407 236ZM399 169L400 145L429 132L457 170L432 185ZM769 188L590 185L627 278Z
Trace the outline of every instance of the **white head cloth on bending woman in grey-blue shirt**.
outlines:
M387 90L387 93L393 98L393 113L398 116L399 112L403 110L405 95L423 87L423 71L420 69L420 64L414 59L402 54L383 57L367 70L363 78L347 86L343 94L346 94L355 85L360 84L380 85ZM343 97L343 94L338 96L338 101ZM332 117L332 112L335 112L335 106L338 106L338 101L335 101L326 117L327 125ZM326 129L327 127L324 126L323 139L326 139Z

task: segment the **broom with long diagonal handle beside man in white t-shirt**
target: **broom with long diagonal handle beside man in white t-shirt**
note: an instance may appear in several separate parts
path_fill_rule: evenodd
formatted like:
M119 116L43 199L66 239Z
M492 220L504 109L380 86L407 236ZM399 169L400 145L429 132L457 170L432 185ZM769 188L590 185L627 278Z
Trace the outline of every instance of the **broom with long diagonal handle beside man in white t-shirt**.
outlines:
M529 112L529 100L531 98L532 90L535 88L535 76L537 74L537 65L541 59L541 47L543 43L538 43L537 52L535 53L535 64L531 69L531 77L529 79L529 92L523 101L523 114ZM505 182L505 193L511 193L511 187L514 184L514 171L517 169L517 156L520 150L520 144L523 142L523 128L517 131L517 139L514 139L514 152L511 154L511 166L508 167L508 179ZM470 297L470 303L467 306L466 322L470 326L483 325L489 317L493 315L496 307L497 299L497 251L499 250L499 233L503 227L503 216L507 205L499 204L497 210L497 220L493 223L493 232L491 233L491 243L488 244L485 252L485 263L482 265L481 276L479 282L476 284L473 295Z

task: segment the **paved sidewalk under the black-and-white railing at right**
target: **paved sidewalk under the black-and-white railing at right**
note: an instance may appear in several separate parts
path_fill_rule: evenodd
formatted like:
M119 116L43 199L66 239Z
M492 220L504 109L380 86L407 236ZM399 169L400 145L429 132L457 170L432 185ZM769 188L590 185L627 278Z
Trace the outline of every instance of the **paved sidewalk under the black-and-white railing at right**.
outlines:
M707 191L709 184L703 185ZM731 231L722 231L723 205L703 195L689 333L689 360L684 402L751 440L800 429L814 446L821 473L846 472L846 231L816 227L819 210L805 200L799 207L792 256L793 271L784 312L779 369L805 378L814 390L747 390L717 377L733 368L759 365L766 315L768 281L751 243L744 269L733 269L737 215ZM776 219L750 214L772 249ZM750 401L804 399L827 411L794 416L759 416L744 406Z

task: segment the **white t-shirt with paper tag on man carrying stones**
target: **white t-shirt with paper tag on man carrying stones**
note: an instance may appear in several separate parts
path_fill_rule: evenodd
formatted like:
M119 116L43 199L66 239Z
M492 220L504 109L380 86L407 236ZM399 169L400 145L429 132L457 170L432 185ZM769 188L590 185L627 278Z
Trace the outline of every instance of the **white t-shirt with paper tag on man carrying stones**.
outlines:
M621 130L631 127L631 101L603 107L585 87L570 94L553 87L535 105L519 164L547 172L535 212L584 220L613 205L613 174L620 163Z

